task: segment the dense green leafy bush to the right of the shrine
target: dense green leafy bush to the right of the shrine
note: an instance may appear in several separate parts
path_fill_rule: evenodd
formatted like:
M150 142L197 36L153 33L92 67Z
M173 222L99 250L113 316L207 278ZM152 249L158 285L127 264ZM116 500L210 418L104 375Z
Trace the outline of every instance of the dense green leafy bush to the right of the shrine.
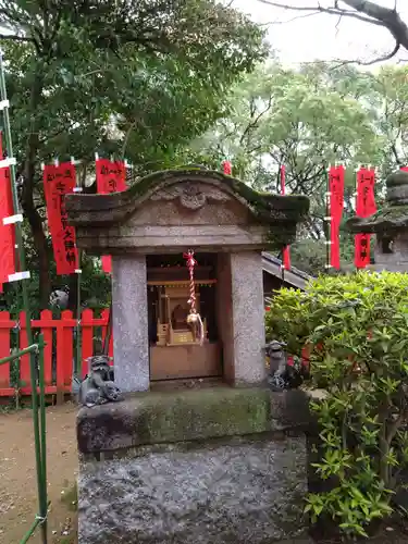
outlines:
M308 345L312 381L326 390L312 410L322 445L314 468L330 491L309 494L306 511L367 535L393 511L408 461L408 274L359 272L319 277L306 293L282 289L267 332L299 357Z

